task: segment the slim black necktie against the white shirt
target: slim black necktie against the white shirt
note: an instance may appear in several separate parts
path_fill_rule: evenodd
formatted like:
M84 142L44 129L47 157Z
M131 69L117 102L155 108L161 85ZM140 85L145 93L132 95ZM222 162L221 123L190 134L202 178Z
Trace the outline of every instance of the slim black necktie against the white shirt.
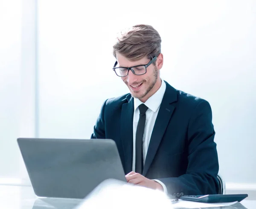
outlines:
M143 171L143 149L142 139L144 133L144 127L146 122L146 111L148 107L145 104L140 104L140 118L136 131L136 156L135 156L135 172L142 174Z

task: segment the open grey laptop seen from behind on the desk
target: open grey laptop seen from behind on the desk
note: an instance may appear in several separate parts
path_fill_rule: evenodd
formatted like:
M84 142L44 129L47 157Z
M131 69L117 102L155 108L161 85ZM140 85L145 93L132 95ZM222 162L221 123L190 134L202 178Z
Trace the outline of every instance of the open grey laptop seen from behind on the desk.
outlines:
M102 181L126 182L112 139L18 138L38 197L83 199Z

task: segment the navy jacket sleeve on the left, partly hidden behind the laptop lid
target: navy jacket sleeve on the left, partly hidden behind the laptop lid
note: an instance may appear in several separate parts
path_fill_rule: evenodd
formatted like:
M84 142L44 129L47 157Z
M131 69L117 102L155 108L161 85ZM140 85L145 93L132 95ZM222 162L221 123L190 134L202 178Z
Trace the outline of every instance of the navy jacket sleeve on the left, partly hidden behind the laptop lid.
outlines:
M96 120L96 124L93 128L93 134L91 139L105 139L105 120L104 120L104 111L106 107L107 100L102 104L99 117Z

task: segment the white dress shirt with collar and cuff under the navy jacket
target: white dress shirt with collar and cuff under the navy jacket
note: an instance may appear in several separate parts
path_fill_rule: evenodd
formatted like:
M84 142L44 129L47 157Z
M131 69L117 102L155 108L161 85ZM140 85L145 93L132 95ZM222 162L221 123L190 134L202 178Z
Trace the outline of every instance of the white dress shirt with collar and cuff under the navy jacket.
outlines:
M160 108L160 104L163 100L163 95L166 90L166 83L162 80L161 86L148 100L144 103L148 110L146 111L146 122L143 133L143 164L147 156L148 145L150 142L151 134L154 128L154 123L157 119L157 114ZM143 104L140 99L134 98L134 119L133 119L133 160L132 160L132 171L135 171L135 153L136 153L136 130L140 117L139 105ZM155 180L155 179L154 179ZM155 180L163 186L164 193L167 194L167 188L160 180Z

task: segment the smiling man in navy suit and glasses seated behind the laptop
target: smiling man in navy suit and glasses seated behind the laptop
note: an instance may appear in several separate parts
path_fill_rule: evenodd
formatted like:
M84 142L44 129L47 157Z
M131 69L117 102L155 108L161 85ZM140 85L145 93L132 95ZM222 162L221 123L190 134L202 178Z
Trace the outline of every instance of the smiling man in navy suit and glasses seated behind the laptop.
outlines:
M129 183L174 197L218 193L212 111L160 78L161 38L148 25L122 32L113 70L130 93L102 105L92 139L113 139Z

